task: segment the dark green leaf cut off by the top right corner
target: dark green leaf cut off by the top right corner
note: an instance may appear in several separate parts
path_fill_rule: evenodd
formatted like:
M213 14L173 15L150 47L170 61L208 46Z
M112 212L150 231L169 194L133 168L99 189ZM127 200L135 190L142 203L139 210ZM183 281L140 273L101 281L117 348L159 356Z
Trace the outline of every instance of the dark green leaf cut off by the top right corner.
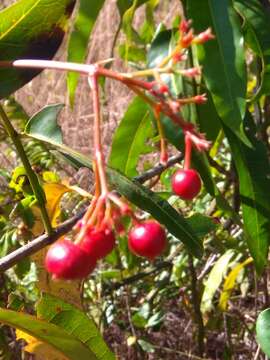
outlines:
M243 19L245 41L262 62L261 81L254 100L270 94L270 15L258 0L235 0L233 5Z

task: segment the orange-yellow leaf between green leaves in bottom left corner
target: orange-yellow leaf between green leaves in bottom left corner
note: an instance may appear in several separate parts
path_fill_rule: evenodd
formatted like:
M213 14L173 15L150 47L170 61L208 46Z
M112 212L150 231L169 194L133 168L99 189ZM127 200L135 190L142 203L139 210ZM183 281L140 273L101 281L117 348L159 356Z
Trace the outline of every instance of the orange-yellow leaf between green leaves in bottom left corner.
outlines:
M17 329L16 338L26 341L27 345L24 347L24 351L35 355L36 360L68 360L66 356L51 345L45 344L24 331Z

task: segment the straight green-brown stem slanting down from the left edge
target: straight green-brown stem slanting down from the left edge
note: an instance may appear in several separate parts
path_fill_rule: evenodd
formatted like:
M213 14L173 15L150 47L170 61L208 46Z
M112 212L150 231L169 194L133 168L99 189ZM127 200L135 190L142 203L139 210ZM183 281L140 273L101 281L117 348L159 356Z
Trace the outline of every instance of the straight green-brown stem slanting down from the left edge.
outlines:
M46 198L45 195L43 193L43 190L39 184L38 178L36 173L33 171L31 164L27 158L27 155L25 153L25 150L23 148L23 145L21 143L20 140L20 136L17 133L17 131L13 128L8 116L6 115L2 105L0 105L0 117L2 119L2 123L3 126L7 132L7 134L10 136L16 150L17 153L23 163L23 166L25 168L28 180L30 182L30 185L32 187L33 193L37 199L37 203L38 206L40 208L41 211L41 218L42 218L42 222L45 228L45 231L48 235L50 235L52 233L52 226L51 226L51 222L47 213L47 209L46 209Z

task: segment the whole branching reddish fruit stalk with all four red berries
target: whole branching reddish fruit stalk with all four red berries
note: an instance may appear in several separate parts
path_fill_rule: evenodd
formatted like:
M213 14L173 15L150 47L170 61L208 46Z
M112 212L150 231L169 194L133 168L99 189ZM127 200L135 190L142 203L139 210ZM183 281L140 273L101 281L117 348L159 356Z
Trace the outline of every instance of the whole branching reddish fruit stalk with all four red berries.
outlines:
M157 69L167 66L171 60L173 60L172 66L179 61L184 61L186 49L191 44L202 44L213 39L211 29L194 35L190 25L190 21L183 20L181 22L178 44L172 53L163 59ZM121 216L123 215L131 216L134 224L128 234L128 246L132 253L153 260L161 255L167 245L165 229L158 222L154 220L138 221L128 205L108 190L100 137L98 75L107 75L128 86L132 85L132 90L141 94L144 99L148 99L147 95L151 95L149 103L152 104L161 137L161 163L167 163L168 154L166 139L163 137L160 123L160 113L163 112L169 116L183 129L185 135L184 169L177 170L172 177L172 190L183 200L192 200L201 190L200 176L196 170L190 168L192 146L203 151L208 149L210 145L203 134L197 133L194 125L186 122L180 115L180 109L184 105L205 103L207 100L205 94L175 99L170 93L169 87L162 82L161 73L158 72L154 72L155 81L148 82L138 80L135 76L138 73L133 74L134 78L132 76L127 78L97 66L94 67L94 70L89 77L89 84L93 93L95 109L95 160L93 161L93 170L96 190L83 220L74 228L77 232L74 236L74 242L64 238L53 244L47 253L45 266L54 278L72 280L87 277L96 267L98 260L110 254L114 249L116 244L115 232L121 234L124 230L121 224ZM149 71L152 70L149 69ZM173 72L173 67L170 67L168 71ZM177 71L187 77L200 75L200 68L177 69ZM139 75L144 77L145 71Z

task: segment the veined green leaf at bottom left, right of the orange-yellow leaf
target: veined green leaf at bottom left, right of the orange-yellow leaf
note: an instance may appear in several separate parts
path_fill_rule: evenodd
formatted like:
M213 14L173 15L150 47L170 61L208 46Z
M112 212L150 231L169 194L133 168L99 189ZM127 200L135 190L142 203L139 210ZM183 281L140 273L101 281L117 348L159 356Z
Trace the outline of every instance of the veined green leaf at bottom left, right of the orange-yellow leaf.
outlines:
M69 335L80 340L98 360L113 360L110 351L93 320L71 304L49 294L43 294L37 305L37 316L61 327Z

